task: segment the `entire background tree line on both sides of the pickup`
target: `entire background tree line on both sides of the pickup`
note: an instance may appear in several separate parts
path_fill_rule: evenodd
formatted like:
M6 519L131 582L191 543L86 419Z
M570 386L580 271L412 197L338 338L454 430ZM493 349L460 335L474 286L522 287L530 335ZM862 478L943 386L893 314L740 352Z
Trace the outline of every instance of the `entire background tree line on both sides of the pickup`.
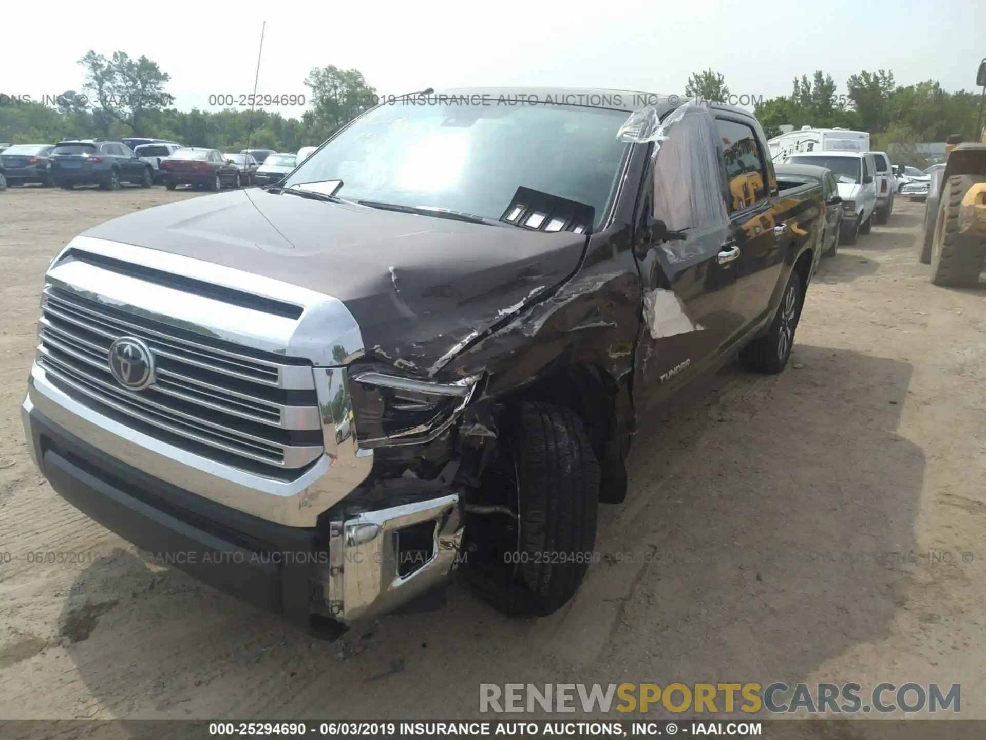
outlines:
M79 64L85 70L84 95L67 90L49 104L0 97L0 140L148 136L223 151L239 151L248 141L257 148L291 152L320 144L378 100L377 90L359 70L327 65L306 77L309 110L299 118L259 108L178 111L166 90L171 76L146 56L135 59L116 51L106 57L89 51ZM897 85L893 73L882 69L850 75L845 89L839 94L832 76L817 70L810 78L795 78L789 96L758 98L754 112L768 137L786 123L796 129L810 125L869 131L877 149L894 149L903 154L898 158L918 166L919 142L945 141L953 133L978 139L976 93L950 93L936 80ZM727 101L731 91L724 75L707 69L689 76L684 93Z

